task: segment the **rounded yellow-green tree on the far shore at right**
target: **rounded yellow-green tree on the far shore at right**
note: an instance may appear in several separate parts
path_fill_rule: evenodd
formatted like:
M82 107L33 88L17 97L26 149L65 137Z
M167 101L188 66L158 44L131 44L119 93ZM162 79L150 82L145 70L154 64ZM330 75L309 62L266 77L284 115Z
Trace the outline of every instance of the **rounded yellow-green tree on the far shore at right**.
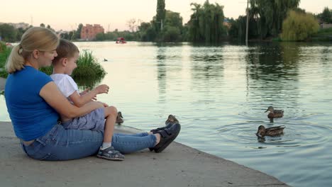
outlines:
M306 40L319 30L319 23L311 13L290 11L282 23L282 40Z

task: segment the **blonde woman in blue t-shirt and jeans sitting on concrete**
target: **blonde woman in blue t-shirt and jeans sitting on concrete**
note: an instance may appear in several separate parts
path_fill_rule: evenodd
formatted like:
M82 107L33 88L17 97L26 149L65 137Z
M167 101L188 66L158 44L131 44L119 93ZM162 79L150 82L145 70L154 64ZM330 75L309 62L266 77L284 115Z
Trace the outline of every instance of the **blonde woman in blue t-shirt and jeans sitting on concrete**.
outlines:
M65 130L57 124L59 113L76 118L104 107L90 102L78 108L61 94L52 79L40 67L48 67L57 56L59 38L46 28L30 28L21 42L13 47L6 62L9 77L6 80L6 105L16 136L24 152L33 159L68 160L96 154L103 141L103 132L93 130ZM109 88L106 88L109 89ZM162 152L177 137L180 125L136 135L113 137L112 145L121 153L151 148ZM114 152L104 152L106 157Z

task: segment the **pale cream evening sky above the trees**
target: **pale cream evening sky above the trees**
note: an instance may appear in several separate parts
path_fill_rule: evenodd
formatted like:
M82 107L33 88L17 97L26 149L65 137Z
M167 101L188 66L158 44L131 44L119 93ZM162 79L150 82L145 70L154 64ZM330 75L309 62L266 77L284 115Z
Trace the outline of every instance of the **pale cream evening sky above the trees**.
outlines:
M192 2L204 4L205 0L165 0L166 9L179 12L183 23L192 14ZM224 6L228 18L245 15L245 0L210 0ZM127 22L134 18L144 22L152 20L157 0L4 0L0 4L0 23L44 23L55 30L76 30L79 23L100 24L105 31L128 30ZM332 8L332 0L301 0L299 7L311 13L321 13Z

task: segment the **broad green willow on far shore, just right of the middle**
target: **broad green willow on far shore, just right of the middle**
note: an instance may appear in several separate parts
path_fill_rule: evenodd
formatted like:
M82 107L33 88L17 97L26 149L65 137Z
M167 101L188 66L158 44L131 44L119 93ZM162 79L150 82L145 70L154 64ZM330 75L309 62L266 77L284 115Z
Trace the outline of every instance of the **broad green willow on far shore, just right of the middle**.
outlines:
M192 3L192 11L188 22L189 40L193 42L219 42L226 33L223 27L223 6L209 4L206 0L204 5Z

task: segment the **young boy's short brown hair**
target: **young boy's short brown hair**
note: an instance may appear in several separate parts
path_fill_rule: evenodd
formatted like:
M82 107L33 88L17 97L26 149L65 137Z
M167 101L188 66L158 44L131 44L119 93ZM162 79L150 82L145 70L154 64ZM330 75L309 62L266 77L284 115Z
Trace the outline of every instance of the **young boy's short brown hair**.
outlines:
M54 58L53 63L59 61L62 58L74 57L75 52L79 52L79 49L73 42L65 39L60 39L60 43L57 46L57 57Z

